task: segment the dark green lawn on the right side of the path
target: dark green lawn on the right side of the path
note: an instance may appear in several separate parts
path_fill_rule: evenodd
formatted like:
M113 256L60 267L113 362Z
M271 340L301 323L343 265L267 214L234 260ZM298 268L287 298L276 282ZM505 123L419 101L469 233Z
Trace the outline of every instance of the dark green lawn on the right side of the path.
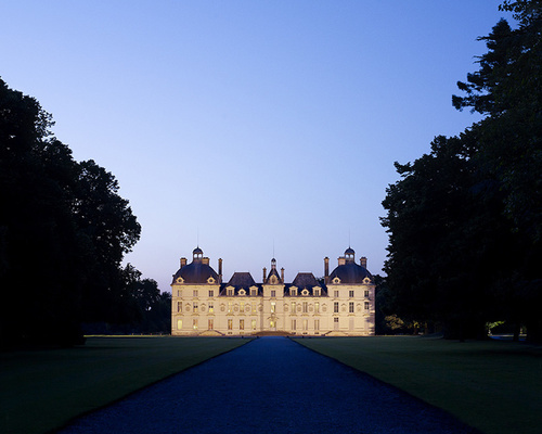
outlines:
M542 347L413 336L297 339L488 434L542 433Z

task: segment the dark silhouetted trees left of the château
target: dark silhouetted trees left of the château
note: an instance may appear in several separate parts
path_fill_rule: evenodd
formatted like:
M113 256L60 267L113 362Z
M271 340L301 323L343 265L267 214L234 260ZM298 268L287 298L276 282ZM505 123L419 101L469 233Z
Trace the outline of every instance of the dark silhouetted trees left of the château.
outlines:
M121 268L141 227L115 177L76 162L52 126L38 101L0 79L0 346L68 345L81 321L142 319ZM140 277L156 304L156 282Z

